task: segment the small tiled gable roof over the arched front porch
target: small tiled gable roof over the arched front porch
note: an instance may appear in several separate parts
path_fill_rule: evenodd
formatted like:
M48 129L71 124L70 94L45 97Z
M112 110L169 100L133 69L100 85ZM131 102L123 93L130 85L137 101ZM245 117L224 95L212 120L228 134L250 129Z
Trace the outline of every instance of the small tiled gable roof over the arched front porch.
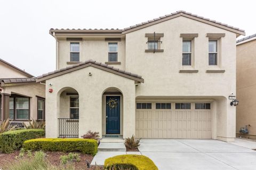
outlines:
M90 65L88 65L88 64L90 64ZM134 77L135 79L139 80L140 82L144 82L142 76L140 76L140 75L133 74L132 72L121 70L119 68L115 68L113 66L109 66L105 63L97 62L97 61L94 61L94 60L87 60L87 61L81 62L79 64L74 64L73 66L69 66L69 67L66 67L66 68L59 69L59 70L51 71L51 72L48 72L47 74L43 74L41 76L38 76L37 79L42 79L44 77L51 76L51 75L54 75L54 74L57 74L57 73L63 72L63 71L65 71L65 73L67 73L67 72L69 72L68 70L70 70L70 72L71 72L71 71L73 71L72 69L74 69L74 68L77 68L77 69L79 69L79 67L84 68L82 66L87 66L87 65L88 66L93 66L93 67L100 66L100 67L97 67L97 68L100 68L100 69L101 69L101 67L106 68L105 69L106 71L111 70L111 72L113 72L113 73L119 73L121 75L123 74L123 75L126 75L126 76L130 76L130 78ZM40 81L40 80L38 80L38 81Z

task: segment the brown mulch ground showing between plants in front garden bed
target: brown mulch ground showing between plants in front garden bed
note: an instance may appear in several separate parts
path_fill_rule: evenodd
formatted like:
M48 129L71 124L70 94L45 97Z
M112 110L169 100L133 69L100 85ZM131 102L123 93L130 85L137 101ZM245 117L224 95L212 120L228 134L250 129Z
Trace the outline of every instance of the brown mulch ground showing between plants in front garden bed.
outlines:
M65 153L65 152L45 152L45 153L46 153L46 159L50 161L52 165L55 165L55 166L61 165L60 163L61 155L68 155L68 153ZM17 161L17 158L15 157L17 157L18 155L19 155L19 151L15 151L14 153L9 153L9 154L0 153L0 169L1 168L3 170L8 169L7 167L10 163L15 163L15 161ZM79 162L74 161L73 163L70 163L70 164L73 164L76 169L94 170L94 166L91 166L91 168L87 168L87 163L86 163L86 160L89 161L89 163L91 163L93 156L83 154L83 153L79 153L79 155L80 155L81 161ZM19 159L24 159L24 158L27 158L27 156ZM100 169L103 169L103 168L100 167Z

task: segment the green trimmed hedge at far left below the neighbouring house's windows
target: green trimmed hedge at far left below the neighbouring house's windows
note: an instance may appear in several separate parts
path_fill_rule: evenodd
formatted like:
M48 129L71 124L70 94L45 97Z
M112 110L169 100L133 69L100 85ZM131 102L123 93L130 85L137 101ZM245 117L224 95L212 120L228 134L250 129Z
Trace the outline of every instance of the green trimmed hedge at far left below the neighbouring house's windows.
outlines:
M23 142L29 139L43 137L43 129L20 129L0 134L0 150L4 153L11 153L22 147Z

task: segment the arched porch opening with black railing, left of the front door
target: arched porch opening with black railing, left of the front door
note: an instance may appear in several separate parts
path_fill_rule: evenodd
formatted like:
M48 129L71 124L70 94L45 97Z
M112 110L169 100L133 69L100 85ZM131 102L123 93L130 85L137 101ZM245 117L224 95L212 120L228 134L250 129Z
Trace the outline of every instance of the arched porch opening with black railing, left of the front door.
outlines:
M62 88L58 92L58 124L59 137L79 137L79 94L71 87Z

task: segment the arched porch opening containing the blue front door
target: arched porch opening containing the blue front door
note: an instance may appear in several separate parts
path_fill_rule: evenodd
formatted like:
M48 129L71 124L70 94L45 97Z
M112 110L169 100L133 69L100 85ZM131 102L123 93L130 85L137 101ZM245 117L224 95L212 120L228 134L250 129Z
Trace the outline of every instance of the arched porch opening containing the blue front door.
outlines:
M123 134L123 94L116 87L102 94L102 132L105 135Z

